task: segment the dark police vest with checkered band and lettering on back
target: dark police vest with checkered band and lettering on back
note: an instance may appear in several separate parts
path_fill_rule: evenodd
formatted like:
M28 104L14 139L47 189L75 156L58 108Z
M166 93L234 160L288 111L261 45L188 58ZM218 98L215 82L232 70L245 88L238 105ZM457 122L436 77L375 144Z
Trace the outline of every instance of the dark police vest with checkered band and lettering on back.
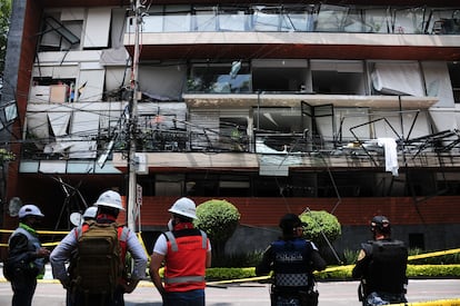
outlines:
M271 244L273 250L274 286L279 290L296 287L312 287L311 273L312 246L303 239L277 240Z

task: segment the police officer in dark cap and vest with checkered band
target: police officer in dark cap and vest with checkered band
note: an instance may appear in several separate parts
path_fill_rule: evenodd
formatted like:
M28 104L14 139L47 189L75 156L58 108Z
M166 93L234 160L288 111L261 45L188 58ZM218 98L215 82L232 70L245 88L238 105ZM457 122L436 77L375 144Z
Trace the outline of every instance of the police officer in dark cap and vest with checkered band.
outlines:
M314 244L302 238L304 226L297 215L284 215L280 220L282 237L267 248L256 267L257 275L273 270L272 306L318 305L313 270L323 270L326 261Z

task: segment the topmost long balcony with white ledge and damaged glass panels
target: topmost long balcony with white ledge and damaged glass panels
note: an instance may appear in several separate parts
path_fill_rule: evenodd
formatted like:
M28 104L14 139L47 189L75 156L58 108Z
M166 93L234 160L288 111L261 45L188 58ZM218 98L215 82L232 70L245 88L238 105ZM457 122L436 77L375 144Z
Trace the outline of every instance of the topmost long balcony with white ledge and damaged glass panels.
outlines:
M128 26L124 45L131 53L133 32ZM143 18L141 60L236 55L453 60L458 34L458 8L166 6Z

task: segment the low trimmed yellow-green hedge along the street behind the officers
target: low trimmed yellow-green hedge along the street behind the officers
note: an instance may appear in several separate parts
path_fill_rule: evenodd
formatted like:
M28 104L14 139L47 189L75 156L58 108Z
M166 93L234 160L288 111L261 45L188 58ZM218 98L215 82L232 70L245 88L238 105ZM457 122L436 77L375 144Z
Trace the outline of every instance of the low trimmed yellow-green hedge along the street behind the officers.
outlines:
M316 273L318 280L351 280L353 265L329 267L324 272ZM409 278L458 278L460 265L408 265ZM229 280L256 277L253 267L249 268L208 268L207 279Z

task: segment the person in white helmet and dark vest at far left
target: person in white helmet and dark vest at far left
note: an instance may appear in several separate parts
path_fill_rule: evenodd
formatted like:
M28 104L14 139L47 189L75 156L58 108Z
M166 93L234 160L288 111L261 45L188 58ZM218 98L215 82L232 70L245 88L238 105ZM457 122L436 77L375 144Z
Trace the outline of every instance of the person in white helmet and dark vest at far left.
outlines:
M44 259L50 251L41 247L36 226L44 217L34 205L19 209L19 227L8 240L6 276L13 290L12 306L29 306L37 287L37 277L44 273ZM7 268L8 266L8 268ZM11 268L11 270L10 270Z

